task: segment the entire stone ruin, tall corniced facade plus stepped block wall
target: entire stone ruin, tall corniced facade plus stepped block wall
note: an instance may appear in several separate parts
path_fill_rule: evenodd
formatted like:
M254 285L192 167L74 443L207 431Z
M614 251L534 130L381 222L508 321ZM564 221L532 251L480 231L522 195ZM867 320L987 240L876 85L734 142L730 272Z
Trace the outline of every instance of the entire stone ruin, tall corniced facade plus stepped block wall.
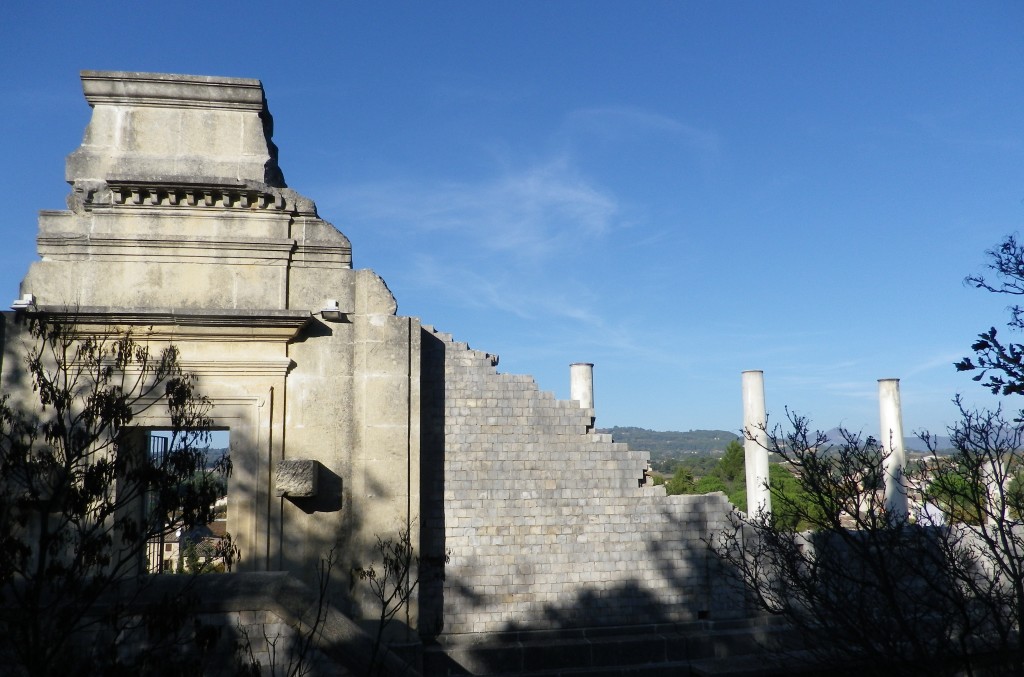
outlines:
M259 81L81 77L92 117L68 209L40 213L23 301L177 345L230 430L242 572L308 582L337 546L347 573L408 528L424 562L410 625L450 647L746 615L702 541L727 525L725 497L666 496L647 453L595 432L592 395L558 400L396 314L285 183ZM443 579L427 570L445 556ZM343 611L372 620L339 578Z

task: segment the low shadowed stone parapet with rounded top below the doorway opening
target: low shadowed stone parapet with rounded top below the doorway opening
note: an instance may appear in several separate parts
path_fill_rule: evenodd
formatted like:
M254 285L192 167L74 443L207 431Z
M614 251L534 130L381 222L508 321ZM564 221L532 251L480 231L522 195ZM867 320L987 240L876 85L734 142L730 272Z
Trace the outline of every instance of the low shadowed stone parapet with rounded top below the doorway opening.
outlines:
M170 663L161 664L168 671L161 674L249 675L253 661L261 667L255 674L292 674L315 628L316 639L301 655L299 674L422 674L420 657L408 646L394 646L394 650L382 646L376 670L371 671L374 637L339 609L338 600L330 595L322 599L318 588L285 573L155 576L137 583L111 590L92 607L90 618L72 638L70 658L82 658L68 666L69 672L87 665L84 657L116 644L125 665L160 659ZM12 612L11 604L10 597L0 600L0 617ZM0 641L0 658L6 658L5 649L9 647Z

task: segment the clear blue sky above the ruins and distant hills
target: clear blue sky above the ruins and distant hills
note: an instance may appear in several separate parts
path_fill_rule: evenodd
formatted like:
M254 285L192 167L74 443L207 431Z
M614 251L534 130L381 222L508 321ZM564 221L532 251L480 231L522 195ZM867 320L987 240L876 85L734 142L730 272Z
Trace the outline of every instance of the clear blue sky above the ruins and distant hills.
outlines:
M0 45L10 299L79 70L251 77L399 312L562 397L595 363L599 425L736 430L746 369L822 428L873 433L879 378L908 430L991 401L952 362L1024 223L1019 2L15 0Z

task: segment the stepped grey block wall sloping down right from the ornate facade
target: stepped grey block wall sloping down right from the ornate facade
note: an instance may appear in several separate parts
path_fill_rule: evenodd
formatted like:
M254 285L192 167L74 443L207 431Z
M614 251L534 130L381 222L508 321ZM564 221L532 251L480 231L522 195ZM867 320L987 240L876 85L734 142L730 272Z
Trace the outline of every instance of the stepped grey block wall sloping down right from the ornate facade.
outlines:
M450 556L421 596L435 632L741 615L701 540L727 527L724 495L666 496L647 452L591 431L593 410L429 328L422 344L423 543Z

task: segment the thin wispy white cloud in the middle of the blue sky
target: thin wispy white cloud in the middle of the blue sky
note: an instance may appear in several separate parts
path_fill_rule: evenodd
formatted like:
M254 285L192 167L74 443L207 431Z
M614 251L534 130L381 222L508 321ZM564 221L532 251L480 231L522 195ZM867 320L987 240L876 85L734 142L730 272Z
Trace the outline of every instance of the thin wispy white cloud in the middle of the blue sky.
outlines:
M718 137L668 117L637 109L590 109L570 114L568 127L613 135L615 130L675 138L698 153L717 153ZM562 130L564 131L564 130ZM631 132L631 133L632 133ZM656 136L655 136L656 135ZM553 134L552 137L557 136ZM551 140L549 138L549 140ZM628 246L633 208L584 168L572 143L530 163L503 154L502 165L478 178L395 178L342 185L319 202L359 228L386 232L401 280L390 273L400 298L414 289L478 316L492 314L543 323L546 345L564 343L589 353L632 356L660 365L689 365L678 337L632 322L609 307L622 300L588 251ZM590 171L593 169L593 171ZM323 195L323 193L322 193ZM657 241L673 232L647 235ZM409 308L407 308L408 310ZM622 308L618 308L620 310ZM429 321L429 319L427 319Z

